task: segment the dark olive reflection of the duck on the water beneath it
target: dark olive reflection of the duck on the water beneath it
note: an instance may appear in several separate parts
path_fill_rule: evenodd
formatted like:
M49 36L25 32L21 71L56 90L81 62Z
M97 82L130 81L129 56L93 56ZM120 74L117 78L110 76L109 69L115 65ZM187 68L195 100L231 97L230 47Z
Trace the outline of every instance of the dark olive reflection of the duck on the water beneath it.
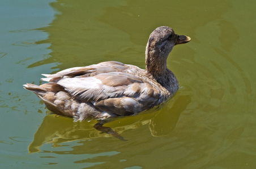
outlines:
M109 126L118 134L122 134L126 130L148 124L152 136L168 135L174 130L181 112L186 109L191 98L189 95L177 93L171 102L172 104L164 103L135 116L115 118L115 121L106 123L105 126ZM40 152L40 146L44 143L52 144L54 148L60 146L61 143L76 140L90 140L99 137L113 139L111 135L95 130L93 128L95 123L95 120L73 122L71 118L48 114L36 131L32 143L29 144L28 152Z

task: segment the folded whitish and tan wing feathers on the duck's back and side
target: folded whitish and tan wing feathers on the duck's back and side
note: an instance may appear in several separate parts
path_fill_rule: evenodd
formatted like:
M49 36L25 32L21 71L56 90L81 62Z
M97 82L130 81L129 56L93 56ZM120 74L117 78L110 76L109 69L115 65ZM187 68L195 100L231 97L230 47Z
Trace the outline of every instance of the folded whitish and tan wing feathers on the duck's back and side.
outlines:
M133 66L133 72L130 66L110 61L62 70L42 80L61 85L80 103L90 102L103 112L130 115L161 102L160 92L134 74L144 70Z

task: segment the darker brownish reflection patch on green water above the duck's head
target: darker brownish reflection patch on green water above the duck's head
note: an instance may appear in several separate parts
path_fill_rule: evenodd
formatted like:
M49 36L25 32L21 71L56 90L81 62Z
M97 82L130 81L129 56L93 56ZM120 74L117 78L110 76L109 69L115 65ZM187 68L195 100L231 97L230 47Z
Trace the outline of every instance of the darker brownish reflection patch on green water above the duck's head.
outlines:
M195 36L195 30L213 20L221 19L231 5L227 1L131 1L127 0L126 5L106 7L100 21L107 23L114 28L123 30L130 35L131 41L143 45L144 39L148 37L152 28L160 25L173 26L178 32L190 31L189 35L194 42L199 39ZM214 6L218 6L215 8ZM193 7L193 8L190 8ZM189 10L188 10L189 9ZM187 11L186 11L187 10ZM196 22L195 19L200 17ZM187 27L188 26L188 27Z

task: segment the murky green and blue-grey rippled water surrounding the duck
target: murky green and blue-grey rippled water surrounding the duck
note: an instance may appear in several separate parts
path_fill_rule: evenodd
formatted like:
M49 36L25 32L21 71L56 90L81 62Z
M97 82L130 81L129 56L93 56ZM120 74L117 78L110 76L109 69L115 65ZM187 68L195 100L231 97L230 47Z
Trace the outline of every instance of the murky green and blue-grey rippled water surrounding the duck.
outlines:
M0 2L0 168L255 168L254 1ZM22 84L116 60L144 68L157 26L191 37L168 67L180 90L163 109L106 126L55 117Z

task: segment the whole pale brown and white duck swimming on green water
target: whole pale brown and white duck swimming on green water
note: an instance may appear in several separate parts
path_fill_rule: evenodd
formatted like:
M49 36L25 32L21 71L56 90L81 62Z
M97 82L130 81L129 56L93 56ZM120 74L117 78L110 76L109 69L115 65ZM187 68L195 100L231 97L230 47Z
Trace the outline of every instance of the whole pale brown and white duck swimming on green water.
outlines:
M103 124L116 117L135 115L152 109L176 94L178 81L167 68L167 58L175 45L190 37L178 35L168 26L153 30L146 46L146 69L105 61L89 66L69 68L56 74L42 74L47 83L24 84L54 114L74 121L96 119L94 128L125 141Z

